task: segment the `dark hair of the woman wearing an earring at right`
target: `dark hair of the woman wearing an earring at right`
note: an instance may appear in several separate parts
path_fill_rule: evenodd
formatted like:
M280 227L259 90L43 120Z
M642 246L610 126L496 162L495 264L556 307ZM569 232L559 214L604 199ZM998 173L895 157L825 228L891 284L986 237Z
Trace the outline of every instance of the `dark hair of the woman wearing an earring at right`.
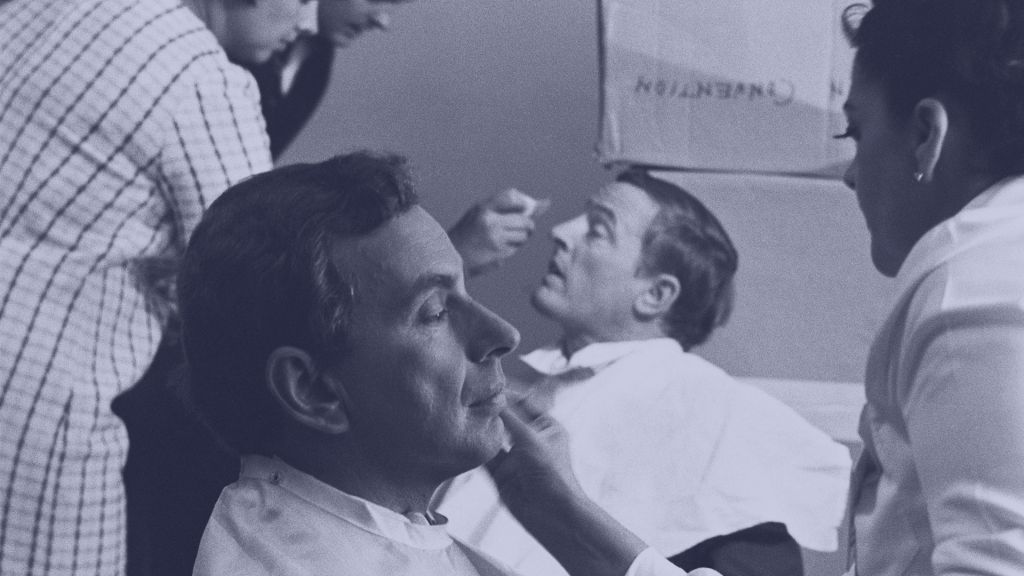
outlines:
M847 8L844 29L896 114L951 97L996 175L1024 172L1024 2L876 0Z

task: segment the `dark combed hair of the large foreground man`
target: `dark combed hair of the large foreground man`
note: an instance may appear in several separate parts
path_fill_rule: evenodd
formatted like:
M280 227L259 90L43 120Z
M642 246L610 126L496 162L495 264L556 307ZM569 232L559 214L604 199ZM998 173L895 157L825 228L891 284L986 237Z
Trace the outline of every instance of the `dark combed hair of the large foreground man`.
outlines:
M404 159L358 152L254 176L210 206L178 298L193 399L228 445L256 451L279 421L265 381L271 351L344 354L356 287L335 268L332 242L417 202Z

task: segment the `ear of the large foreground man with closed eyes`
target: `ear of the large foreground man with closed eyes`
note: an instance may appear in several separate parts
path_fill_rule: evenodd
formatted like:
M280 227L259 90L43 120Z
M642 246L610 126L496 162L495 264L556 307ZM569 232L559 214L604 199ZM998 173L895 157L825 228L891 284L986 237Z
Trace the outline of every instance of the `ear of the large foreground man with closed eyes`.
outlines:
M317 369L304 349L274 348L266 360L266 382L291 419L327 434L348 429L348 406L341 383Z

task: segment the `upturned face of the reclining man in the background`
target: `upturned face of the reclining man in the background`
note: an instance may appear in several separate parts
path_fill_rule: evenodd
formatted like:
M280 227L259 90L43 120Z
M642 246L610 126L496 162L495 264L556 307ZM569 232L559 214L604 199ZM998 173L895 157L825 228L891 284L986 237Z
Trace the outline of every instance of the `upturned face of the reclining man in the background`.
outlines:
M552 230L555 253L534 306L568 332L614 338L643 287L637 266L657 212L647 193L632 184L614 182L592 196L583 214Z

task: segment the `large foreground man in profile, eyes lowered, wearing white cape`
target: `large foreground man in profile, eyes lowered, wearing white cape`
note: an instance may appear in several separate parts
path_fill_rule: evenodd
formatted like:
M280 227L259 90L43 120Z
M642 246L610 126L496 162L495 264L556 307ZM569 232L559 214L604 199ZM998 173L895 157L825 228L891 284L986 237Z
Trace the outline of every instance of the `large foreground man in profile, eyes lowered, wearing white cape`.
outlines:
M195 573L506 574L428 501L501 449L518 333L401 159L355 153L237 184L179 278L197 405L244 454Z

